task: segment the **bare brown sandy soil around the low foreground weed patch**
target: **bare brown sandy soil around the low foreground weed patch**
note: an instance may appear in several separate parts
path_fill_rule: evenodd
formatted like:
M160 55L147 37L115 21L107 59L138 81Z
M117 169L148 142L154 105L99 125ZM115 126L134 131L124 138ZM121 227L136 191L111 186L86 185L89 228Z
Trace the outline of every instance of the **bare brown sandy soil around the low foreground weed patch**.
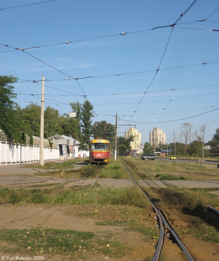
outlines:
M127 255L123 258L110 258L104 256L101 253L89 256L87 260L144 260L145 257L153 256L155 250L155 244L145 242L145 237L138 232L124 231L120 226L97 226L95 221L106 220L108 216L108 210L103 207L99 209L98 216L96 217L84 217L79 216L81 211L92 211L92 207L84 206L45 206L45 205L29 205L29 206L0 206L0 226L4 228L19 228L29 229L33 227L41 228L58 228L58 229L72 229L78 231L94 232L100 236L104 233L111 234L112 241L123 242L131 251L127 251ZM145 226L155 226L154 216L156 213L151 213L151 216L142 215L138 218L143 222ZM0 241L0 249L2 249L6 242ZM11 258L15 256L21 256L21 253L3 253L0 251L1 256L9 256ZM22 254L24 256L24 254ZM26 256L31 256L27 254ZM69 256L61 255L43 255L44 258L50 260L81 260L79 258L73 258ZM33 258L33 254L32 254ZM9 260L9 259L8 259ZM13 260L13 259L11 259Z

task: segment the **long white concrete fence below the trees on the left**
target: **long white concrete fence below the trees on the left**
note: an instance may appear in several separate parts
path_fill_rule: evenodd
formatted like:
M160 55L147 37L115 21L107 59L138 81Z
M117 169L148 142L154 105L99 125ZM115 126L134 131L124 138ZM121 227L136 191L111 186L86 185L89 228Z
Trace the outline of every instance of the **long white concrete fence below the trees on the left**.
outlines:
M7 164L21 164L39 162L39 146L30 145L24 146L15 143L9 143L6 141L0 141L0 166ZM43 148L43 160L58 160L59 149L58 148Z

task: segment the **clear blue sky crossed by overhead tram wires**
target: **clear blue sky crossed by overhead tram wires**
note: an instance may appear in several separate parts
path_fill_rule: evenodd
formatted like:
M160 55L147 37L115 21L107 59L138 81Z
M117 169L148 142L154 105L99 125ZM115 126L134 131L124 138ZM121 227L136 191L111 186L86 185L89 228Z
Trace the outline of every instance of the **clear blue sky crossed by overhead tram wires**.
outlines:
M119 136L136 125L144 143L159 127L170 143L188 122L193 132L206 124L211 140L219 127L218 1L198 0L187 12L193 1L45 1L0 3L0 71L18 77L22 108L41 104L41 82L31 81L44 75L44 108L69 113L86 96L93 122L115 125L118 114Z

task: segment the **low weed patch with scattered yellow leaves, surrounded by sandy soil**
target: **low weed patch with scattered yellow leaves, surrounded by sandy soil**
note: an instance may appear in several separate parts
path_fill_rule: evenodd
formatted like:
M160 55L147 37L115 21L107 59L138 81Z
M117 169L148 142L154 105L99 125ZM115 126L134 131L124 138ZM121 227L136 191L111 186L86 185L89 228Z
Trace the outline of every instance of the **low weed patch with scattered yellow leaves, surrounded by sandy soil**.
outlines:
M110 257L122 257L127 249L120 242L101 240L92 232L65 229L4 229L0 230L0 238L1 241L13 243L10 247L5 246L2 249L10 253L20 253L22 249L22 253L77 256L99 251Z

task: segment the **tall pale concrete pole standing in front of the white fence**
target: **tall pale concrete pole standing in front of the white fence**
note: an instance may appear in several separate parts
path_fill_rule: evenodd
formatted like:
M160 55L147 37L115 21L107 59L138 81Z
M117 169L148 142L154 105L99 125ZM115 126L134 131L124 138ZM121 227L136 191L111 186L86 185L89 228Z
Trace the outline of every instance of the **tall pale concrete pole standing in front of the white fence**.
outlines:
M42 76L41 92L41 115L40 115L40 145L39 145L39 164L43 166L43 136L44 136L44 75Z

